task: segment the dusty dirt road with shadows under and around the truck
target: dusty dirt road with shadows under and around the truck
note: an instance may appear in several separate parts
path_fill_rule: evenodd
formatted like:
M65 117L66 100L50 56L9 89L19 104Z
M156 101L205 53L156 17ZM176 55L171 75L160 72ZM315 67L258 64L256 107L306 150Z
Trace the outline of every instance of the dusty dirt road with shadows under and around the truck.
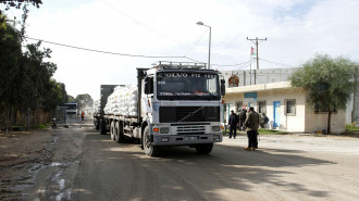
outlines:
M29 166L27 184L8 188L2 200L359 198L358 138L262 136L258 151L245 151L240 136L225 138L209 155L180 147L150 158L138 145L119 145L99 135L91 120L49 131L54 135L47 142L52 155Z

